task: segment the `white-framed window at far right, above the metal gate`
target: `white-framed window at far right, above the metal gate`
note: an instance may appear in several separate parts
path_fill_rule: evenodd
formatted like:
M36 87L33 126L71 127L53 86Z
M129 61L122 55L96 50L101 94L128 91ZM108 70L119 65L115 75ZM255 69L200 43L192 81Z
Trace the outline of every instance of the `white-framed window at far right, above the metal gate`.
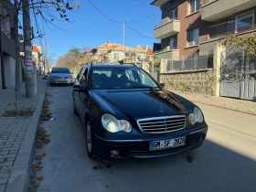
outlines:
M244 31L253 26L253 12L238 16L237 31Z

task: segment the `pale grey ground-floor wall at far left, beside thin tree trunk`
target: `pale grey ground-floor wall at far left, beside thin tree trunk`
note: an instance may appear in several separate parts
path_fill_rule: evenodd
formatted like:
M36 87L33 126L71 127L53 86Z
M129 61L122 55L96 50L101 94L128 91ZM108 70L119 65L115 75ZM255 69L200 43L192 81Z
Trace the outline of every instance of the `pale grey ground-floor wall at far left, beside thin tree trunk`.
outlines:
M15 88L16 82L16 59L4 56L5 62L5 83L7 88Z

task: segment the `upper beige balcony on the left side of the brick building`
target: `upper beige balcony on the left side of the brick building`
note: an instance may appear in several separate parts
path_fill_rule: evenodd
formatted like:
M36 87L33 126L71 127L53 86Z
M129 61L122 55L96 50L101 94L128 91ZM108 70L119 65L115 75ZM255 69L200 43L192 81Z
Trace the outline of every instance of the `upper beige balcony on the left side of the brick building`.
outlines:
M162 24L154 28L155 38L166 38L171 37L179 33L180 31L180 21L177 19L170 19L166 17L162 20Z

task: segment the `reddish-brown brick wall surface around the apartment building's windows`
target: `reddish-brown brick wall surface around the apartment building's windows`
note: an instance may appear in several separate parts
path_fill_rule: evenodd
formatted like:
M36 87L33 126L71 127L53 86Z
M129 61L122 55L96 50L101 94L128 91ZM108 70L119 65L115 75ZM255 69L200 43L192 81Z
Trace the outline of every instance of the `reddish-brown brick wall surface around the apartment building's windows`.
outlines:
M202 3L208 0L201 0ZM177 48L179 48L179 57L187 57L198 50L198 46L187 47L187 30L199 27L199 42L208 37L208 22L201 20L200 11L189 15L190 5L188 0L175 0L162 9L162 19L168 16L170 10L177 7L177 17L180 20L180 32L177 34ZM168 38L162 40L163 48L168 43Z

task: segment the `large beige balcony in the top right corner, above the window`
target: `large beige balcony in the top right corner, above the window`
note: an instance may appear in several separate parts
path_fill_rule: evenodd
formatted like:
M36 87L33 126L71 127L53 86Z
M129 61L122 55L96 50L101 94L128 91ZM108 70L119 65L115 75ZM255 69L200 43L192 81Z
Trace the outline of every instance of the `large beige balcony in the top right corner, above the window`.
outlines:
M202 19L215 21L256 6L255 0L209 0L201 5Z

